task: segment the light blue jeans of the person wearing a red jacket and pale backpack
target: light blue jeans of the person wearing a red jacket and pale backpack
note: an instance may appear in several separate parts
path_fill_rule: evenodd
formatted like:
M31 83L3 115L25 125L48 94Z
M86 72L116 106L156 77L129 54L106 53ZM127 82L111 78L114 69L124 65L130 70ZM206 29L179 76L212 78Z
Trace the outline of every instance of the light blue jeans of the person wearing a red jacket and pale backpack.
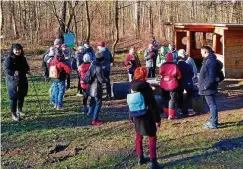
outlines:
M63 107L63 96L65 93L65 80L54 81L53 89L51 94L51 102L53 102L57 107Z

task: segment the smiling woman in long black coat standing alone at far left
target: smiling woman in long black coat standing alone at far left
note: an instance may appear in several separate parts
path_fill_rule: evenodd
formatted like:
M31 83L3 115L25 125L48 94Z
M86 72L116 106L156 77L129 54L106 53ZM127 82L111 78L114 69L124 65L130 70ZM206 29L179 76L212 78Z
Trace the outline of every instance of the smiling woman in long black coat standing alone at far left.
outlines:
M29 65L24 57L23 47L20 44L12 45L10 55L4 62L4 72L6 74L12 119L19 121L20 115L23 115L24 97L28 92L26 74L30 73Z

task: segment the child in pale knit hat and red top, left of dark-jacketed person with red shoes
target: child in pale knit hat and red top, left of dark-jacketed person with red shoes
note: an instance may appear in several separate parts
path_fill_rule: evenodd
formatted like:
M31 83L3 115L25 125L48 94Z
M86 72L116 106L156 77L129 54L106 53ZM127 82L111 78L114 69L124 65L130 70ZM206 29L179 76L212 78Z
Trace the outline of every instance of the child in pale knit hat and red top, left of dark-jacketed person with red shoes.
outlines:
M83 63L79 66L79 76L80 76L80 86L83 92L83 108L81 109L82 112L87 113L87 101L88 101L88 84L84 83L83 79L85 78L86 73L88 72L90 65L91 65L91 57L89 54L85 54L83 56ZM89 114L88 114L89 115Z

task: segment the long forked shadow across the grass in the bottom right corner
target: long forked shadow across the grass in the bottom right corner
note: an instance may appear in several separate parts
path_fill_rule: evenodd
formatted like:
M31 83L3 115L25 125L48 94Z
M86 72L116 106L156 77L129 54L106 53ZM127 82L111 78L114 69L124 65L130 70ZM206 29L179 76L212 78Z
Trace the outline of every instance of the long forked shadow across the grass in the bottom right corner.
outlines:
M178 165L187 164L188 161L191 161L193 164L196 164L198 161L217 155L222 151L230 151L236 149L241 149L241 150L243 149L243 137L221 140L215 143L211 147L185 150L182 152L172 153L166 156L162 156L159 159L171 158L176 156L189 156L190 153L197 153L197 151L203 151L202 154L192 155L190 157L186 157L182 159L177 158L176 160L164 164L165 167L171 168Z

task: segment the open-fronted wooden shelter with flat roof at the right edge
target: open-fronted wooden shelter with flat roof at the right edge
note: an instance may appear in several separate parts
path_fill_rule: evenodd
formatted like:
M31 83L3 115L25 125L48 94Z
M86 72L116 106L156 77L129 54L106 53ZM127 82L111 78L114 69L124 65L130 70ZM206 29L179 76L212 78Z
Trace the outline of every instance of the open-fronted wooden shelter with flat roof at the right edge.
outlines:
M243 24L175 23L176 49L185 49L197 63L200 47L209 45L224 63L226 78L243 78Z

